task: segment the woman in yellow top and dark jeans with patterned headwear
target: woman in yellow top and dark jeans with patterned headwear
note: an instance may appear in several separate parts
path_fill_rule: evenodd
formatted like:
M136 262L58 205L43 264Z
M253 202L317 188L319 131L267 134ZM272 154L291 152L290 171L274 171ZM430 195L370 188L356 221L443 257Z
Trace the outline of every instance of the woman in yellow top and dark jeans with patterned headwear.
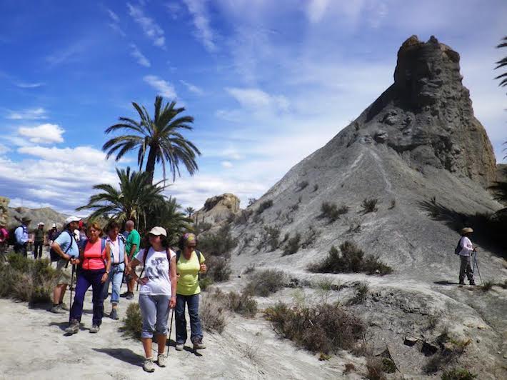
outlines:
M181 236L180 251L176 253L176 273L178 285L176 286L176 350L184 349L186 341L185 304L189 307L190 340L194 349L205 349L201 320L199 319L199 272L206 272L204 256L196 251L197 239L194 234Z

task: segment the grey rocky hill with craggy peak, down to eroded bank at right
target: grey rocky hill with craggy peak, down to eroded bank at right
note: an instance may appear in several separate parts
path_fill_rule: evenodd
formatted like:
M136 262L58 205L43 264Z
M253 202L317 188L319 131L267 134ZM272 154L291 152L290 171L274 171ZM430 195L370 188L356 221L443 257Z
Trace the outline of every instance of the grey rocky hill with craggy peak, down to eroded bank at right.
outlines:
M232 261L238 271L251 264L283 269L298 284L366 281L369 296L355 312L368 321L370 344L380 351L387 345L409 378L425 374L431 354L405 337L436 344L444 329L471 342L454 364L481 379L507 376L507 290L457 286L453 249L468 225L478 231L483 280L507 278L505 251L488 239L486 225L502 207L486 190L496 179L495 157L473 116L459 59L433 36L406 40L393 85L243 211L231 232L239 241ZM325 204L340 210L336 218L324 215ZM378 256L393 274L308 272L343 241ZM288 244L296 253L283 254Z

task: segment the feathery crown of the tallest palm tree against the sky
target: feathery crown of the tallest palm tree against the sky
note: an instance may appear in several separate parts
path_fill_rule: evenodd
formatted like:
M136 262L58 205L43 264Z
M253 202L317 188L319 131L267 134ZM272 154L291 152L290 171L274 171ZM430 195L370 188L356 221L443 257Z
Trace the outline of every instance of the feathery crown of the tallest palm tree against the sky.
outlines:
M146 172L149 174L149 181L153 183L155 164L161 163L164 170L164 181L166 181L166 165L173 174L173 181L176 173L181 176L179 166L184 164L186 171L191 176L199 170L196 163L196 156L201 152L189 140L181 134L181 129L192 130L194 123L192 116L180 116L185 111L184 107L176 108L176 101L163 104L162 96L156 96L155 114L151 119L144 106L132 102L136 109L139 121L120 117L119 124L114 124L106 129L106 134L113 131L125 131L126 134L113 137L106 141L102 150L107 152L106 158L116 154L116 161L119 161L126 153L137 150L137 163L139 170L143 168L144 157L148 152L146 160Z

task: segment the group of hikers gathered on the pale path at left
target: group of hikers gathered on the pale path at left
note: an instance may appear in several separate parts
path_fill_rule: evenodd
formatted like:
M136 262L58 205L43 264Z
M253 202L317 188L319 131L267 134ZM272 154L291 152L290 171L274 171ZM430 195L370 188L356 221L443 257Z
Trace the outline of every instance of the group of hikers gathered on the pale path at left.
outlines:
M15 231L17 243L15 251L24 256L29 241L27 231L29 223L28 218L22 219L21 226ZM37 227L37 230L39 229L41 224ZM194 350L206 348L199 319L201 293L199 274L206 272L206 264L204 255L196 250L196 235L181 236L179 249L174 251L169 246L166 229L161 226L149 231L144 249L140 249L141 236L134 228L134 221L126 221L124 234L120 234L120 226L114 221L106 226L104 232L98 223L86 226L81 218L69 216L64 221L62 231L49 236L51 261L56 261L58 271L50 311L57 314L69 312L66 334L79 332L84 298L90 286L93 316L89 332L96 334L100 331L104 317L104 300L109 296L109 284L112 284L109 313L111 319L119 319L120 297L134 298L134 287L139 284L141 341L146 356L143 363L145 371L153 372L155 362L161 367L166 366L164 351L171 309L176 322L176 350L183 350L187 340L186 308L190 316L190 340L193 348ZM37 235L35 236L37 239ZM37 259L39 254L34 254L34 257ZM143 267L139 275L136 273L137 266ZM120 294L124 280L127 290L124 294ZM64 304L64 296L67 287L72 286L73 281L75 296L69 310ZM158 345L156 361L151 353L153 339Z

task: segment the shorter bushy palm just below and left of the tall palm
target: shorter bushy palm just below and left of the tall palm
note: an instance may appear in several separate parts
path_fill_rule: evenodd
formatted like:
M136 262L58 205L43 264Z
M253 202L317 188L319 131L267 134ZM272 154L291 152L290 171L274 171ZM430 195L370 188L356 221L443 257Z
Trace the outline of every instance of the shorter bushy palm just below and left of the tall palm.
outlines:
M90 219L104 215L117 221L134 219L138 229L146 228L146 214L156 208L156 204L164 202L161 194L164 186L151 184L149 174L144 171L116 169L119 178L119 189L110 184L95 185L93 189L100 190L98 194L90 196L88 204L76 210L94 210Z

